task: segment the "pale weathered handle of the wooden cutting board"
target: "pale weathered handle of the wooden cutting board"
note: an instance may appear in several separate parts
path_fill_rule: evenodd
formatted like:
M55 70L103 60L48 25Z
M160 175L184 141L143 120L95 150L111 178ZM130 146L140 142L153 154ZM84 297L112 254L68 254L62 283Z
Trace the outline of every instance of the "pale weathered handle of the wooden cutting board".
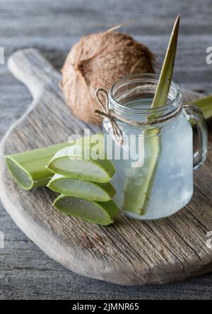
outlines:
M34 99L41 95L45 85L55 86L61 79L59 72L34 48L14 52L8 59L8 68L16 79L28 86Z

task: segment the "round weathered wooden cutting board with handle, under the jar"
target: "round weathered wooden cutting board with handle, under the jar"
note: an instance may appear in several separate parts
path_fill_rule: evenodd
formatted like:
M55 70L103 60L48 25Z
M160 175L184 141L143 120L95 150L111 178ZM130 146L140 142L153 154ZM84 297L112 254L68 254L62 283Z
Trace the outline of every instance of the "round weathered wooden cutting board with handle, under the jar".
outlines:
M58 87L61 75L34 49L20 50L8 62L11 72L33 95L28 111L1 142L0 196L18 227L49 257L83 276L117 284L163 284L212 270L212 164L195 172L194 197L170 218L138 221L120 213L101 227L62 215L52 208L47 188L23 191L5 168L4 155L64 142L84 128ZM199 94L184 93L190 99ZM208 159L211 159L209 136ZM206 242L208 240L208 242Z

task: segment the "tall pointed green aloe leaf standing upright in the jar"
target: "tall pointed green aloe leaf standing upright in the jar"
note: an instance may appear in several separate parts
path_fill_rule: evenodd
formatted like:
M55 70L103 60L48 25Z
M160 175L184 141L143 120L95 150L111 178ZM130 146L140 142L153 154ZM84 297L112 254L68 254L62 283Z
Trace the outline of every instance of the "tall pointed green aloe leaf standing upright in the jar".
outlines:
M160 72L158 86L151 108L165 106L172 81L172 72L175 64L175 55L177 50L177 38L179 32L179 16L175 21L170 36L170 42L167 47L165 60ZM149 118L152 118L151 116ZM145 159L143 167L132 169L134 174L126 179L124 187L124 210L144 215L151 196L155 171L160 157L160 138L158 138L158 128L151 128L144 131L146 147L150 150L148 158ZM143 173L143 169L148 169L148 174ZM142 182L141 182L142 180ZM139 182L140 181L140 182Z

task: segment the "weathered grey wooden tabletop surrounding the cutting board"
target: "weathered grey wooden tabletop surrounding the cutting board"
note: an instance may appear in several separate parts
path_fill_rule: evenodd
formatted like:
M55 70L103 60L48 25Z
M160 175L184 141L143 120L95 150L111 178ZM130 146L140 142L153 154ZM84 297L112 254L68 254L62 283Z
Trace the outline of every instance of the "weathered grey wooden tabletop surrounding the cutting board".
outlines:
M134 19L123 30L163 57L175 16L182 16L175 80L180 86L212 93L212 1L0 0L0 138L28 107L28 90L8 72L6 61L23 47L37 47L59 69L73 43L85 33ZM212 230L212 226L211 226ZM125 287L73 274L52 261L18 230L0 206L0 299L210 299L212 274L163 286Z

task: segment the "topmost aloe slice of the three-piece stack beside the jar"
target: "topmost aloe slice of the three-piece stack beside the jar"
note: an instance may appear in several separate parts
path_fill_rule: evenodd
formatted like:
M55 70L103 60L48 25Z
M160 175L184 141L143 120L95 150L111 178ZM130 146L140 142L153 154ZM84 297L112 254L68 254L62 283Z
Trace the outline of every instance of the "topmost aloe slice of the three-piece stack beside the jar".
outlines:
M90 155L90 147L81 147L79 150L78 145L72 145L71 150L70 147L59 150L47 167L55 174L73 179L99 183L110 181L115 172L112 162L101 154L98 159L93 159ZM88 159L85 159L85 156Z

